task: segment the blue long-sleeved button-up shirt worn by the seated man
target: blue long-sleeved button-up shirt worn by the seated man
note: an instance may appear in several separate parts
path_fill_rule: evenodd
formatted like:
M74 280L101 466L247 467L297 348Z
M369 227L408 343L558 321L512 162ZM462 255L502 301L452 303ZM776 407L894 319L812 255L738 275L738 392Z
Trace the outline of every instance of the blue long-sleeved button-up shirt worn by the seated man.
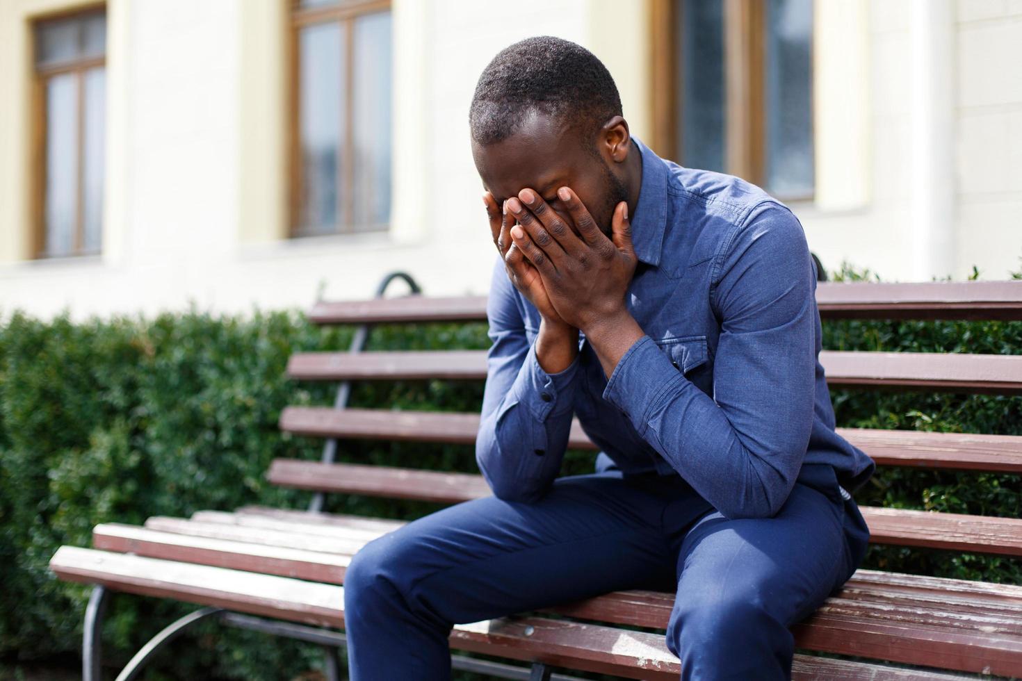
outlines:
M633 140L643 167L625 304L645 335L609 379L584 334L574 361L547 374L540 313L498 256L475 451L483 478L498 497L540 499L576 415L602 449L597 471L680 475L728 518L774 516L796 480L821 471L855 490L875 464L834 431L801 224L758 187Z

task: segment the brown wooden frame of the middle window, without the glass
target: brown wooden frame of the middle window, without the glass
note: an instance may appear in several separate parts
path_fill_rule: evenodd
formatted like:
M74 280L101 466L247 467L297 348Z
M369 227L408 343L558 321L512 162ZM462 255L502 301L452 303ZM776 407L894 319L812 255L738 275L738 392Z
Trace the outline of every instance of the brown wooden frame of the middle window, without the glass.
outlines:
M354 210L355 210L355 118L354 100L355 93L353 84L355 82L355 19L364 14L390 11L390 0L337 0L334 4L324 4L322 6L300 7L300 0L284 0L287 3L288 13L288 35L287 35L287 59L288 59L288 227L287 233L291 238L307 236L331 236L337 234L353 234ZM344 120L342 139L342 157L340 159L340 177L338 196L341 197L337 206L338 228L334 232L326 234L310 233L301 225L301 196L303 196L303 165L301 165L301 131L299 98L300 92L300 64L298 55L298 34L303 28L316 23L340 22L340 30L344 32L344 87L347 96L344 98L344 110L342 116ZM378 230L385 230L387 226L376 226Z

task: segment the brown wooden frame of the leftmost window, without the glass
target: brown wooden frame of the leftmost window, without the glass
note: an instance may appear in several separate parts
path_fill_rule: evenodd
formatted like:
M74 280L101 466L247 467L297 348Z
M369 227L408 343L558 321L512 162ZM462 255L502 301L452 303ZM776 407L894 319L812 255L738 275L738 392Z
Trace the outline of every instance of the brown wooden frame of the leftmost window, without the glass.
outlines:
M106 16L106 3L89 3L59 12L41 14L32 18L29 30L32 45L32 99L30 103L30 119L32 126L32 161L30 167L30 184L32 187L32 258L48 259L51 257L81 257L97 255L102 252L102 243L97 250L85 250L85 174L83 160L85 157L85 74L97 66L106 67L106 48L103 47L101 57L76 57L65 61L55 61L47 64L37 63L37 41L40 26L51 21L59 21L72 17L84 18L91 14ZM76 149L75 167L75 200L78 210L75 216L75 234L69 253L51 254L46 252L46 135L48 118L46 107L46 85L55 76L75 74L76 99L78 104L78 148ZM105 125L105 121L104 121Z

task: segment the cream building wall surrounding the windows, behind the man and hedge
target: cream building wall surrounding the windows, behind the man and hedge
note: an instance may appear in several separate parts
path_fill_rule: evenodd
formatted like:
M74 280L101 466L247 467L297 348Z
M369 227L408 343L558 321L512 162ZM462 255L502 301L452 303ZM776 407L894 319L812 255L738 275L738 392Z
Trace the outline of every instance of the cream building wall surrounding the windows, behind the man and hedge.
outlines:
M626 10L610 0L519 0L520 21L487 18L507 13L503 0L472 12L462 0L394 0L390 230L290 240L283 1L110 0L103 254L30 261L29 21L67 4L0 0L0 92L11 93L0 107L0 313L305 306L320 289L369 295L396 269L429 293L484 292L494 254L467 107L490 58L527 35L593 49L633 131L651 128L645 0ZM912 136L919 6L817 0L817 197L793 208L831 269L848 259L886 279L928 278L911 264L921 196L913 164L925 158ZM1010 67L1022 56L1022 8L950 6L954 274L975 262L998 278L1022 254L1022 71Z

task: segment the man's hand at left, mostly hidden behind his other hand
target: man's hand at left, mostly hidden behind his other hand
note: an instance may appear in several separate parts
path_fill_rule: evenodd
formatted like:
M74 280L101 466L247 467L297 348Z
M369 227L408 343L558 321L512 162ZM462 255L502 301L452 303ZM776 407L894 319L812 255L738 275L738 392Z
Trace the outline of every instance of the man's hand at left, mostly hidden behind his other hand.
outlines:
M482 195L482 202L486 206L494 245L504 260L508 279L540 310L540 334L536 341L540 367L548 374L562 372L578 354L578 329L565 323L557 313L536 267L522 257L521 250L512 242L510 230L514 225L514 215L501 210L490 192Z

